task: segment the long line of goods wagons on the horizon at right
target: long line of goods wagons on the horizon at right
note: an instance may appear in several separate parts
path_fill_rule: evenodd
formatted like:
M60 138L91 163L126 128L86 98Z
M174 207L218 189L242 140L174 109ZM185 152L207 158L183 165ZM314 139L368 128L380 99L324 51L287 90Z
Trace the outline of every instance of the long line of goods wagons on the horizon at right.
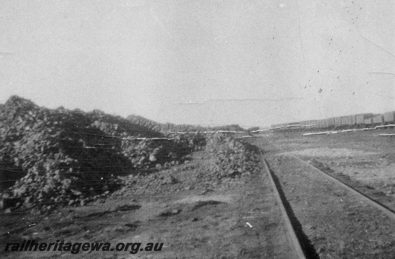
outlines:
M395 111L383 114L362 113L341 117L331 117L318 120L303 120L299 122L273 124L272 128L295 129L295 128L364 128L380 125L395 124Z

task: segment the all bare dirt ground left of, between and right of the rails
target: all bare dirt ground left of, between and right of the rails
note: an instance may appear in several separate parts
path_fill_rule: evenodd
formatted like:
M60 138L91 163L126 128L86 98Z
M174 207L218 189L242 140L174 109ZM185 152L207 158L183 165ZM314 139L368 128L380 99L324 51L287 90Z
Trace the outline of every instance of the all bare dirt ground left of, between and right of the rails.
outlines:
M393 258L394 222L356 196L317 177L308 163L349 181L394 208L395 130L251 138L263 148L311 258ZM296 156L302 160L294 160ZM131 177L130 185L83 207L49 214L1 215L1 244L36 242L163 243L160 252L1 252L4 258L295 258L273 186L259 174L217 181L204 176L210 153ZM157 180L161 179L161 182ZM159 183L159 184L158 184ZM376 193L376 194L375 194ZM4 246L1 250L4 249Z

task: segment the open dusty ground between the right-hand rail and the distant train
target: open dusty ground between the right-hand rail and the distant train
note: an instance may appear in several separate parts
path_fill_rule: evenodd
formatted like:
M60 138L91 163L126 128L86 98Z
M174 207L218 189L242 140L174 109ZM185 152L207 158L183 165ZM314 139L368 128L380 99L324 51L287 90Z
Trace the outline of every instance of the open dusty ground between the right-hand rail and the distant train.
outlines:
M280 153L305 160L395 211L395 137L377 136L382 132L395 131L311 136L298 143L297 150L291 148L295 138L291 147L282 141Z

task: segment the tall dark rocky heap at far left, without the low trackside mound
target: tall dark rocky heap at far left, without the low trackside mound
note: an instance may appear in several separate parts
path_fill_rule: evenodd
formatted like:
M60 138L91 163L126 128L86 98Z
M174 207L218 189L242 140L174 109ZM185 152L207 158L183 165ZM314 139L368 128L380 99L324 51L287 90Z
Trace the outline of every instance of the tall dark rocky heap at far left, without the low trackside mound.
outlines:
M189 137L136 140L164 137L102 111L51 110L12 96L0 107L0 181L8 195L1 198L2 209L84 205L121 187L117 176L131 169L156 170L187 161Z

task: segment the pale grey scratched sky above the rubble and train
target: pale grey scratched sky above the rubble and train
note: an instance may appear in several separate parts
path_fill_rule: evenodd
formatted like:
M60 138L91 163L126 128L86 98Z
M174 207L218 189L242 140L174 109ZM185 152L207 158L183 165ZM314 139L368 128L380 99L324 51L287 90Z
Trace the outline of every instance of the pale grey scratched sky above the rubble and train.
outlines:
M0 2L0 103L188 124L395 110L392 0Z

